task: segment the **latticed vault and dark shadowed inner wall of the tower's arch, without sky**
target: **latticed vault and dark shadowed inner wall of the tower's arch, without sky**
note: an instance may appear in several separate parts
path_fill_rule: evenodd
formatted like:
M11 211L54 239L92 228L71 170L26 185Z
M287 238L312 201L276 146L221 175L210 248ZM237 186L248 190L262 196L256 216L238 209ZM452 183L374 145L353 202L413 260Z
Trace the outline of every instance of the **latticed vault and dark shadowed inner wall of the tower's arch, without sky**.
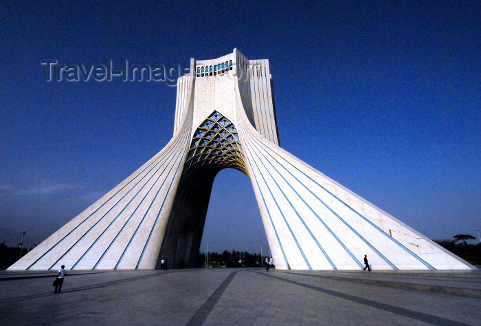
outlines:
M222 169L247 175L236 127L214 110L190 142L157 268L161 259L166 259L170 268L195 266L202 239L199 230L205 224L214 178Z

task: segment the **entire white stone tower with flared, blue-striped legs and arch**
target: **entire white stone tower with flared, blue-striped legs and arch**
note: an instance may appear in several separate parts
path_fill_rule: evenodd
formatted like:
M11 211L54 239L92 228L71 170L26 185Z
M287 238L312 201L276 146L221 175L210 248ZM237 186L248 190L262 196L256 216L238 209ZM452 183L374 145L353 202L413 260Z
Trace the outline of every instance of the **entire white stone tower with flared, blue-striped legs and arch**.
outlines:
M375 270L473 268L281 149L269 62L234 49L191 59L172 140L9 269L193 267L226 168L250 178L278 269L360 270L364 254Z

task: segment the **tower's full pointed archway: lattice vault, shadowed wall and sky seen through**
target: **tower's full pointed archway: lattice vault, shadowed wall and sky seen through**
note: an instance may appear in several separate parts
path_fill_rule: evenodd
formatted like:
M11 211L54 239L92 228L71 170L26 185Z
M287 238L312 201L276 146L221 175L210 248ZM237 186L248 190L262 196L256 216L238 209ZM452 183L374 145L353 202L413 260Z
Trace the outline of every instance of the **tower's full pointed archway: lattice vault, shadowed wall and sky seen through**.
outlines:
M167 260L170 268L195 267L200 263L199 252L204 250L224 252L238 247L237 251L262 254L264 246L269 251L254 190L245 177L247 166L242 148L234 123L215 110L197 127L183 165L157 268L162 260ZM216 187L211 196L214 180ZM205 226L207 216L212 217ZM262 259L259 257L258 261Z

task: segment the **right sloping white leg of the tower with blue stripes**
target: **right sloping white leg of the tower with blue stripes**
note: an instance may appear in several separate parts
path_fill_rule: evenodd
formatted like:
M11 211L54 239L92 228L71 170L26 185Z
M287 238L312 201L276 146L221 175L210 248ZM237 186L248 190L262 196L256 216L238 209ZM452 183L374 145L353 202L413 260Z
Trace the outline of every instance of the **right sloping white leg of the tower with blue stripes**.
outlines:
M240 102L240 101L239 101ZM239 135L276 268L449 270L471 266L267 140Z

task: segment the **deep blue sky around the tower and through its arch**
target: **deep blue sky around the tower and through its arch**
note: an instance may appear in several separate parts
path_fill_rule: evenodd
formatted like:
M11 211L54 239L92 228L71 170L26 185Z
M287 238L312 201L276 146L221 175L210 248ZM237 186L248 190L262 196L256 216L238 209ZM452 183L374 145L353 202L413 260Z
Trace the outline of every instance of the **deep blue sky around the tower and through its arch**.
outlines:
M269 59L284 149L427 237L481 228L479 1L28 2L0 2L9 244L45 239L172 136L175 87L47 82L41 59L183 64L234 47ZM214 182L207 242L266 251L238 171Z

